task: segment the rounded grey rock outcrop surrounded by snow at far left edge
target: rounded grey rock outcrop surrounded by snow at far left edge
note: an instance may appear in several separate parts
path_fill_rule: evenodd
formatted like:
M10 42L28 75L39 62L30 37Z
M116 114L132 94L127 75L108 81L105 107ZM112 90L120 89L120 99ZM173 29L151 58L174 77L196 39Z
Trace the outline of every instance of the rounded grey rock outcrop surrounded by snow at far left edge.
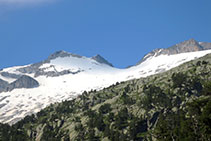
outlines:
M34 88L38 86L39 83L35 79L27 75L19 77L16 81L10 84L0 79L0 92L11 91L15 88Z

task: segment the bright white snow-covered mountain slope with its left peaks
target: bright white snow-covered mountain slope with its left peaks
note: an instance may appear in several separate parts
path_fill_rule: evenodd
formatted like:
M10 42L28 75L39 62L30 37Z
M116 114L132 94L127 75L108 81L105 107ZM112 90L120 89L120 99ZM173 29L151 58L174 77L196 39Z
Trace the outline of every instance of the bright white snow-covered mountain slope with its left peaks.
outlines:
M173 55L158 53L145 56L147 59L127 69L114 68L101 56L87 58L64 51L36 64L3 69L0 80L8 84L26 75L39 86L10 91L5 88L0 93L0 122L15 123L51 103L72 99L83 91L99 90L116 82L160 73L209 54L211 50ZM24 84L25 80L20 81Z

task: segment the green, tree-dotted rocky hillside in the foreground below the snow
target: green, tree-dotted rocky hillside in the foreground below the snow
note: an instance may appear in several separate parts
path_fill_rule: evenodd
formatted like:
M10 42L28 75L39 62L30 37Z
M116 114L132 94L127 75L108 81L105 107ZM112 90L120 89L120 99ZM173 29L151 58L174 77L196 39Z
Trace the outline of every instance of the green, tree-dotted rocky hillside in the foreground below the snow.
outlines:
M167 72L84 92L13 126L1 124L0 139L209 141L210 115L211 54Z

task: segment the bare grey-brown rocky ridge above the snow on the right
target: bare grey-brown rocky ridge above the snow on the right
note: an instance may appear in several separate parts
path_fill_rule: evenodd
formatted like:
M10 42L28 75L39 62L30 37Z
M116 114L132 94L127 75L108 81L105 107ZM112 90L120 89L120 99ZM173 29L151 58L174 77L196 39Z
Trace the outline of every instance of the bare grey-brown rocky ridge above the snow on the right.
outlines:
M144 58L140 62L138 62L137 65L141 64L142 62L153 56L156 57L159 55L174 55L179 53L195 52L208 49L211 49L211 43L197 42L194 39L190 39L166 49L155 49L152 52L146 54Z

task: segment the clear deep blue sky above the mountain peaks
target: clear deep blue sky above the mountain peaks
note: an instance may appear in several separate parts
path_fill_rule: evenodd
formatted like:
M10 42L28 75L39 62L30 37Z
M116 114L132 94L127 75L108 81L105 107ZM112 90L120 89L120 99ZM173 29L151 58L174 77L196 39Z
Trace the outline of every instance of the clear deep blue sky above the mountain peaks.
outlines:
M123 68L155 48L190 38L211 42L210 0L6 1L0 0L0 68L58 50L100 54Z

